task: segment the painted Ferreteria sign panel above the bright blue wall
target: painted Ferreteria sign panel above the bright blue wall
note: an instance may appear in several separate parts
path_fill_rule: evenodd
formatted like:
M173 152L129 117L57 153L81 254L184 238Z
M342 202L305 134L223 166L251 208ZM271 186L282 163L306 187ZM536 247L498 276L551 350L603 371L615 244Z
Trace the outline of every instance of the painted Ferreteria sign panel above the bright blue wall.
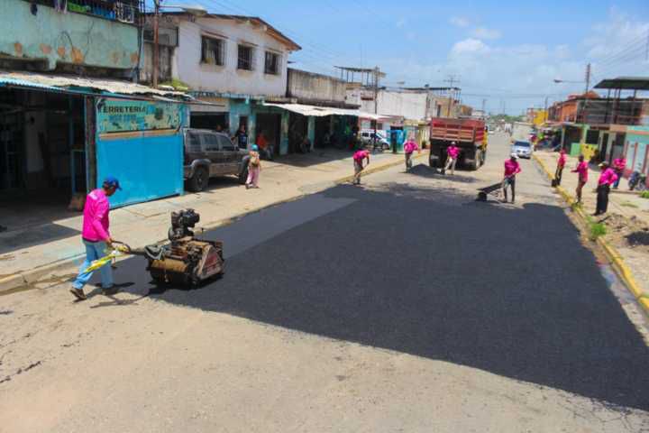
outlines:
M102 97L96 103L97 134L178 130L182 104Z

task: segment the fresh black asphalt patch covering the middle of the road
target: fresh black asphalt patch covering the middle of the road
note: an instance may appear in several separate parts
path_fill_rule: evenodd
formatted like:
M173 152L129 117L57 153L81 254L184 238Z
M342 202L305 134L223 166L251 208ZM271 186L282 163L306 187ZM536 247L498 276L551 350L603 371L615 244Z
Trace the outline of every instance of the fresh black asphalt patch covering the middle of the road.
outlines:
M224 279L152 297L649 409L649 350L560 207L339 186L206 237ZM145 294L144 268L116 281Z

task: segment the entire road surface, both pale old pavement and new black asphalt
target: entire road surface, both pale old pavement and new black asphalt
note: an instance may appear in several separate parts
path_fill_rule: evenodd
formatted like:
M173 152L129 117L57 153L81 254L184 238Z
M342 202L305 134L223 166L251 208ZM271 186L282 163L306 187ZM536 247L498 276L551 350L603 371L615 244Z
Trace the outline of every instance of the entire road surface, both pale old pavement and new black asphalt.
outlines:
M0 299L0 431L649 431L644 318L531 163L515 206L473 201L491 147L210 233L198 290L133 259L112 298Z

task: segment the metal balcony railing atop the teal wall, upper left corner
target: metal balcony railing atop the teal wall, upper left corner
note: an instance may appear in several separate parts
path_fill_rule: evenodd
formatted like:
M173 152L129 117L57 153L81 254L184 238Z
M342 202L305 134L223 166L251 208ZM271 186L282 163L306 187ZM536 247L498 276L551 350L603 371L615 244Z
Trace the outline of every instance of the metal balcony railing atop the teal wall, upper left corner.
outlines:
M144 10L143 0L30 0L30 3L50 6L61 13L95 15L131 24L140 23Z

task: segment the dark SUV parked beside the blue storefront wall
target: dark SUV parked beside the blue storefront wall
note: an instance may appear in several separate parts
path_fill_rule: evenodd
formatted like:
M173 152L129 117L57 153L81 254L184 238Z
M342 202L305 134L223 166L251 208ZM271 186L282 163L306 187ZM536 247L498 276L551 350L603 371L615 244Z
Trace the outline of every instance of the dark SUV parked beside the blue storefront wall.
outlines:
M234 175L241 183L248 178L248 152L240 150L227 134L207 129L185 130L185 170L187 189L206 189L210 178Z

